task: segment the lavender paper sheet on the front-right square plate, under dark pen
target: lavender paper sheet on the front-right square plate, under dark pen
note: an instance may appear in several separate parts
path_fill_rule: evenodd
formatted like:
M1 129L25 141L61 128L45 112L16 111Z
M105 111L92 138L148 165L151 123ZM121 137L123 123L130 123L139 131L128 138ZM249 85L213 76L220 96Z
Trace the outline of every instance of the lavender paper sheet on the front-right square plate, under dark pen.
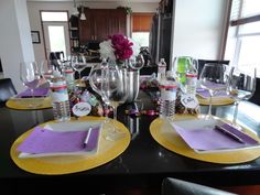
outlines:
M245 143L240 143L225 133L219 132L214 128L199 128L199 129L184 129L180 126L173 124L176 132L183 140L194 150L210 151L221 149L238 149L246 147L258 145L258 141L248 134L235 129L234 127L224 123L221 124L227 130L242 139Z

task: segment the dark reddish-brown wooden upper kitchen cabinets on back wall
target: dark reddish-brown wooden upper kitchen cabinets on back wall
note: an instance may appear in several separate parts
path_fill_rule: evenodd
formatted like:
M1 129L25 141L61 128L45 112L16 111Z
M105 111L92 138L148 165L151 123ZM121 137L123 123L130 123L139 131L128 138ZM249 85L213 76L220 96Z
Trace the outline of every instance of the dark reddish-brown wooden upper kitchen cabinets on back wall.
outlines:
M88 9L87 20L79 20L79 41L104 41L115 33L127 33L127 12L124 9Z

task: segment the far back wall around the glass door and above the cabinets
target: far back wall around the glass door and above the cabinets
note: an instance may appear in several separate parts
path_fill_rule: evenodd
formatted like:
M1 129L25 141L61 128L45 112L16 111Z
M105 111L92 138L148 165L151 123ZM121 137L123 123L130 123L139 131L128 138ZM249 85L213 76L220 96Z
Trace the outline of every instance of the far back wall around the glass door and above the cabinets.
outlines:
M79 3L77 3L79 6ZM126 2L84 2L84 7L88 7L90 9L116 9L117 7L130 7L133 12L155 12L159 7L158 3L131 3L126 4ZM43 33L41 26L40 19L40 10L67 10L71 12L73 9L73 2L33 2L28 1L28 11L29 19L32 31L40 31L41 44L33 44L35 59L42 61L45 58L44 54L44 45L43 45ZM129 22L129 19L128 19ZM129 23L130 25L130 23ZM128 32L130 26L128 25ZM128 33L129 35L129 33Z

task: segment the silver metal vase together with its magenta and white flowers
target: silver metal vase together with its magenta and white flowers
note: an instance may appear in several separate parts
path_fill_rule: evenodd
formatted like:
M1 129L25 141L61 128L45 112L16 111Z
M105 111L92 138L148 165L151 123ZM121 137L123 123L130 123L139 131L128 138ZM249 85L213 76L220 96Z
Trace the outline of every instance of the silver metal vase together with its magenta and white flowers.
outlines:
M128 97L124 102L134 101L139 94L139 71L143 67L144 61L140 53L140 46L123 36L115 34L99 44L99 52L102 58L107 58L109 65L116 65L128 84Z

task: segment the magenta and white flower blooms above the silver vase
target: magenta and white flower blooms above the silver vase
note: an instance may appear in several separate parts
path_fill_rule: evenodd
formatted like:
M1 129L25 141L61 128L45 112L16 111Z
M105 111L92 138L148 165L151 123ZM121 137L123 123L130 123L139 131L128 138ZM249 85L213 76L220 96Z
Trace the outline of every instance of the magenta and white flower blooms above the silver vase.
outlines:
M110 61L123 62L136 57L140 47L130 39L122 34L113 34L108 36L107 41L99 44L100 56Z

